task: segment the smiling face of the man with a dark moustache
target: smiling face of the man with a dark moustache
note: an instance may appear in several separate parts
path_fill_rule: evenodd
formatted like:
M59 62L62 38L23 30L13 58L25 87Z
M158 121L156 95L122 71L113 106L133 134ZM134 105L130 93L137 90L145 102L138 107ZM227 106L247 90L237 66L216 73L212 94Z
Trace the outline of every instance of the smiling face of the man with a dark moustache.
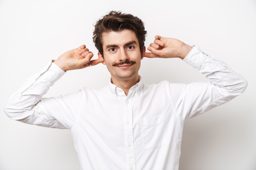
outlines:
M112 81L138 78L141 59L139 41L134 32L124 30L103 34L103 56ZM144 47L145 51L145 47ZM101 54L98 53L99 57Z

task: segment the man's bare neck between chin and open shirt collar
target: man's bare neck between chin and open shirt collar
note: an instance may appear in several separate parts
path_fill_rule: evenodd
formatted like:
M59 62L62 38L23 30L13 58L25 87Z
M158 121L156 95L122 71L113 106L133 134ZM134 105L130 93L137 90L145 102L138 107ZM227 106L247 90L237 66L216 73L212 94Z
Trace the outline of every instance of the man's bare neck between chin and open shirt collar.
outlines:
M128 95L129 89L139 82L139 75L132 78L114 78L111 77L111 83L124 90L126 96Z

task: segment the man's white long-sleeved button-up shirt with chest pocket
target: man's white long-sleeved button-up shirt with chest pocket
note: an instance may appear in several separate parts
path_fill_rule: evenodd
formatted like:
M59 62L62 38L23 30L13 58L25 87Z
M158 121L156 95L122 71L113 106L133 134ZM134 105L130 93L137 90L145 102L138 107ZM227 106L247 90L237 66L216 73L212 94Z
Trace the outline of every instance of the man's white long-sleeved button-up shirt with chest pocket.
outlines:
M209 82L144 85L128 95L112 83L42 98L65 72L50 63L4 108L28 124L70 129L81 170L178 170L184 120L241 94L247 81L196 46L184 59Z

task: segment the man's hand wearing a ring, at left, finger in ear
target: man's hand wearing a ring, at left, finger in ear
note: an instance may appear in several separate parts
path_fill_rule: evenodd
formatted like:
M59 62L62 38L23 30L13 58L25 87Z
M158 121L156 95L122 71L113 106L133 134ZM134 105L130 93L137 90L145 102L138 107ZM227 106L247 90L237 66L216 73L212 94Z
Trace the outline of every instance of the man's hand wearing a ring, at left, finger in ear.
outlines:
M59 68L63 71L76 70L81 68L86 68L89 66L89 61L91 61L93 53L86 48L85 45L81 45L78 48L69 50L63 53L58 59L54 61ZM103 58L95 59L91 61L92 65L97 65L104 61Z

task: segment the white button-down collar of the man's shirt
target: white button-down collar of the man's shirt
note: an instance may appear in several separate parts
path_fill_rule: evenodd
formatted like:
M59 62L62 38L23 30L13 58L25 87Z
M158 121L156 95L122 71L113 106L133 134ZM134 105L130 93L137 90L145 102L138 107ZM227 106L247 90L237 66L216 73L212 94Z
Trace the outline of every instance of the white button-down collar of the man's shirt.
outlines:
M142 81L141 76L139 76L139 82L130 88L129 93L132 93L135 91L135 93L139 96L140 92L142 90L142 87L143 87L143 81ZM124 94L124 91L121 88L119 88L116 85L114 85L113 83L111 83L111 78L109 81L109 88L110 88L111 94L113 94L116 98L118 96L121 96L121 94Z

